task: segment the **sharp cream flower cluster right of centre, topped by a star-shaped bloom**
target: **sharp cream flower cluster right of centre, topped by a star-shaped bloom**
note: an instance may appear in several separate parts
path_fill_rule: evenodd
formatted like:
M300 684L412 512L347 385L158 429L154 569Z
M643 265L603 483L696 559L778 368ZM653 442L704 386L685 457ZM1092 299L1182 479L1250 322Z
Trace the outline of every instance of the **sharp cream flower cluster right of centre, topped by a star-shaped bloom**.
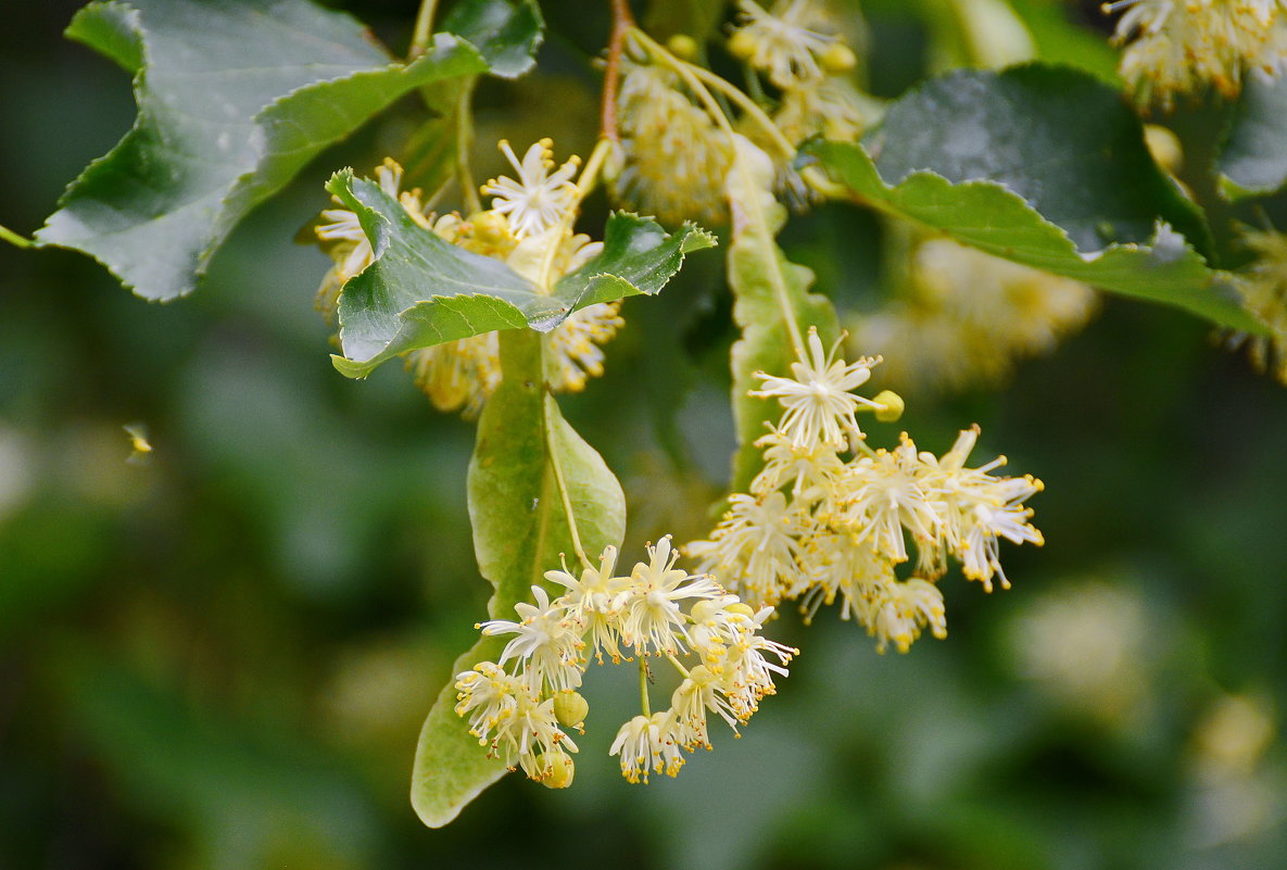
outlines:
M1004 457L967 467L977 427L942 457L918 450L906 434L893 449L870 448L855 412L885 421L902 412L896 394L851 393L879 360L846 363L837 356L839 342L826 354L812 329L807 345L792 377L758 376L763 389L752 395L784 408L757 441L763 470L749 493L730 499L710 539L686 552L752 606L802 598L812 618L839 598L842 619L864 625L882 651L889 643L906 651L925 628L945 637L936 582L949 559L985 589L1008 588L1000 541L1041 543L1023 504L1041 483L994 476ZM897 566L912 556L912 577L900 579Z

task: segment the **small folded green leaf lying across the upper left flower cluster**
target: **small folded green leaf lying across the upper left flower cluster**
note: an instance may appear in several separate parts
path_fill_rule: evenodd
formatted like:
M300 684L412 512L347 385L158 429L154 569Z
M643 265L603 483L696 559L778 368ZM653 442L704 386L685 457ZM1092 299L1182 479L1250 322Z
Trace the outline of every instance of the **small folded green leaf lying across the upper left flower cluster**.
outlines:
M713 243L694 227L672 236L650 220L615 214L602 254L547 295L503 261L443 241L378 184L355 179L351 170L337 172L327 189L358 215L376 256L340 296L344 356L332 359L349 377L366 377L418 347L494 329L548 332L578 308L656 293L687 251Z

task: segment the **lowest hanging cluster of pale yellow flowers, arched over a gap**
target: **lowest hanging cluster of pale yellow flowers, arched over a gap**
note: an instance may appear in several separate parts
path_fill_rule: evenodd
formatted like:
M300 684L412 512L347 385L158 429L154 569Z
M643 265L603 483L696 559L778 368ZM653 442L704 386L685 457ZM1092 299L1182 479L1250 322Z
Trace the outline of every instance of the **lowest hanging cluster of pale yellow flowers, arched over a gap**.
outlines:
M674 776L685 750L709 749L708 713L736 732L773 694L775 674L786 676L797 654L761 637L773 609L754 611L714 578L676 568L669 535L647 555L628 575L615 573L615 547L580 577L566 565L547 571L562 595L551 600L534 586L534 604L515 605L517 620L477 625L484 634L512 636L499 662L480 662L456 677L456 712L490 755L552 788L569 785L568 752L577 746L564 728L583 726L588 704L577 689L591 658L638 658L645 673L650 658L664 658L682 674L669 709L650 712L645 689L644 712L613 741L611 754L631 782L646 782L650 772Z

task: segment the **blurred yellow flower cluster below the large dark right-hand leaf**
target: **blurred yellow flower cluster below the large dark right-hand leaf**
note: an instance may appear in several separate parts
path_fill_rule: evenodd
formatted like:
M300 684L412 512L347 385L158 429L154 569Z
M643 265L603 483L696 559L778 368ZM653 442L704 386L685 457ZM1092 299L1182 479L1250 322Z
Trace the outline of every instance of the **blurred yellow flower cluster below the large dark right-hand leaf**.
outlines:
M1098 308L1095 292L947 238L912 250L900 295L853 324L855 344L889 360L900 389L963 389L1049 353ZM894 353L897 351L897 353Z

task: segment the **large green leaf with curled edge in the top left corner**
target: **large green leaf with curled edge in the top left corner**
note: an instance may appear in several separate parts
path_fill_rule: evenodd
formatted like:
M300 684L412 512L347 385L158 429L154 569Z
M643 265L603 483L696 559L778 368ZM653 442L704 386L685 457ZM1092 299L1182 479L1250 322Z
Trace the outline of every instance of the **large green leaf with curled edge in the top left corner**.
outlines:
M139 116L37 241L153 300L192 291L237 221L328 144L414 88L486 69L447 35L390 63L356 21L304 0L94 3L67 35L135 73Z

